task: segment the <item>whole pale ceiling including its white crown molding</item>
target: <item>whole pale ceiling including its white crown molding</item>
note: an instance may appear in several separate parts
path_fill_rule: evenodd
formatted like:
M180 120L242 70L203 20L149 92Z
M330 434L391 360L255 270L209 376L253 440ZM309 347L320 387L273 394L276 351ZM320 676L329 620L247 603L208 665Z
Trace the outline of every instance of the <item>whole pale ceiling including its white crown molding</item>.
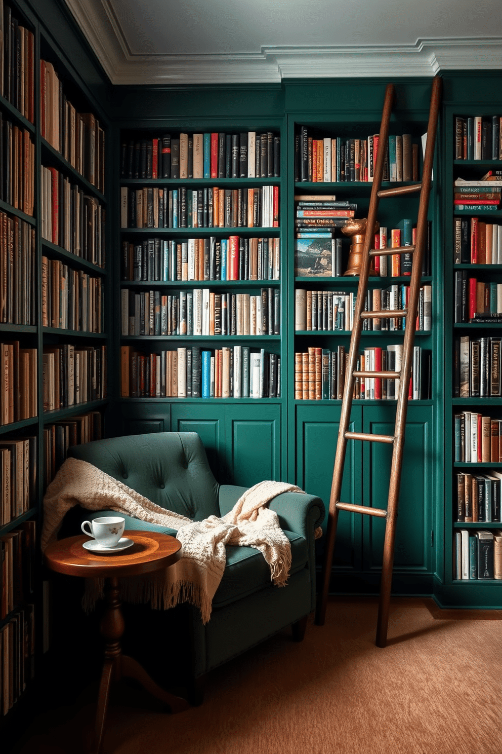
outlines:
M65 0L113 84L502 69L500 0Z

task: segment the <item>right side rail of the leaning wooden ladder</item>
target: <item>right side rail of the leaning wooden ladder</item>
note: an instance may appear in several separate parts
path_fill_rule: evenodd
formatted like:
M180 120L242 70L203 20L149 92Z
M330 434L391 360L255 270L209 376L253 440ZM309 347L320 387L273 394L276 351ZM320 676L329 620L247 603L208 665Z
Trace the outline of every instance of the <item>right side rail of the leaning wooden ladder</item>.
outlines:
M427 124L427 144L425 146L424 168L422 171L422 189L418 204L418 222L415 241L415 253L412 258L412 277L409 291L408 316L403 340L403 363L401 366L400 389L397 398L395 421L395 443L391 461L391 479L389 483L387 522L382 560L382 578L380 582L379 615L376 629L376 645L385 647L387 642L388 611L391 596L392 569L394 566L394 540L397 523L397 505L399 501L401 471L403 467L404 435L406 412L408 409L409 379L412 369L412 350L415 338L415 320L418 307L418 293L421 282L421 265L424 252L427 209L431 194L434 147L436 143L437 119L440 109L442 81L435 77L432 85L431 108Z

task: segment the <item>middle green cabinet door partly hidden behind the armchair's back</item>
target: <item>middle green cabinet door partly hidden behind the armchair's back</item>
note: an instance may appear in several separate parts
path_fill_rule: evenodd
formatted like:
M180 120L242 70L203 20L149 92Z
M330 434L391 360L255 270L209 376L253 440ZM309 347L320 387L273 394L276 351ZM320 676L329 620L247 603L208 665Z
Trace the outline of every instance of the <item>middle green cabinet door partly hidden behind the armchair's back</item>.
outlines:
M225 406L176 403L171 406L173 432L196 432L205 447L209 466L218 482L224 478Z

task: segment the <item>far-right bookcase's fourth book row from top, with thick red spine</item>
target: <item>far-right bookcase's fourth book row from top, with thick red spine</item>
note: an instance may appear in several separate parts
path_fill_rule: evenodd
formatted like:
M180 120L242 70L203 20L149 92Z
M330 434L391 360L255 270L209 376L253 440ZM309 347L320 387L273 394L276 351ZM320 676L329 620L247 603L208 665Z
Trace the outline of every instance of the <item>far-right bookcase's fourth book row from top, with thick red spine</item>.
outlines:
M469 271L455 271L455 322L490 323L502 321L502 283L468 277Z

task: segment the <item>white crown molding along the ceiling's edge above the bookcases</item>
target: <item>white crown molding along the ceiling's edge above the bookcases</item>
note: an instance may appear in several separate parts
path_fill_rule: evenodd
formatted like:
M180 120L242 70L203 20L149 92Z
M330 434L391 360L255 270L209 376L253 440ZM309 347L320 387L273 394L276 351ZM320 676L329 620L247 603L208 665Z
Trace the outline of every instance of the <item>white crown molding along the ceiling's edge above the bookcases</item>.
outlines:
M427 38L415 44L263 47L256 53L132 54L106 0L65 0L112 84L254 84L283 78L433 76L502 69L502 38Z

